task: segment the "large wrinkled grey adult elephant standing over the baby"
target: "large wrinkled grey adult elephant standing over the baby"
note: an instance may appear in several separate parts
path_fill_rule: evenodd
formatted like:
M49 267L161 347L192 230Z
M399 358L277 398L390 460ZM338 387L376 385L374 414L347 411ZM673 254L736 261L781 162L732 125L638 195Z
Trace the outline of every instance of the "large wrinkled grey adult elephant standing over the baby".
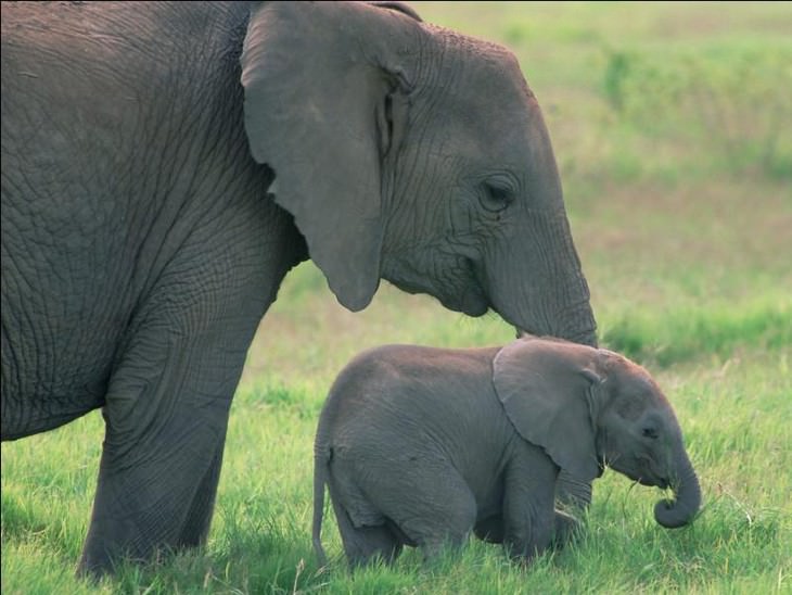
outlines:
M102 408L81 570L205 539L301 261L595 342L516 61L382 4L2 3L2 439Z

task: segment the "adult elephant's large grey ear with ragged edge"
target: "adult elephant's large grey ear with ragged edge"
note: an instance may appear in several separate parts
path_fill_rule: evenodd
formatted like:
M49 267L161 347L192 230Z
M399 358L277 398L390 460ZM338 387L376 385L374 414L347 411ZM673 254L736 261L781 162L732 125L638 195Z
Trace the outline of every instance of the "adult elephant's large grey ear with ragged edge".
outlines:
M366 3L264 2L245 36L251 152L274 170L276 202L353 311L380 282L382 163L401 138L409 84L400 61L419 27Z

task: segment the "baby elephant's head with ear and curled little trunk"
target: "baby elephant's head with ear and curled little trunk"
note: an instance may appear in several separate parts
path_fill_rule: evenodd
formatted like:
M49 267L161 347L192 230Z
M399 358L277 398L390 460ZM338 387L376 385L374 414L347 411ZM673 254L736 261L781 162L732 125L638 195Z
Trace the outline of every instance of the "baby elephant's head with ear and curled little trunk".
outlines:
M559 468L590 482L606 464L644 485L670 488L654 508L663 527L689 523L699 480L674 409L646 369L605 350L521 339L495 358L494 384L507 415Z

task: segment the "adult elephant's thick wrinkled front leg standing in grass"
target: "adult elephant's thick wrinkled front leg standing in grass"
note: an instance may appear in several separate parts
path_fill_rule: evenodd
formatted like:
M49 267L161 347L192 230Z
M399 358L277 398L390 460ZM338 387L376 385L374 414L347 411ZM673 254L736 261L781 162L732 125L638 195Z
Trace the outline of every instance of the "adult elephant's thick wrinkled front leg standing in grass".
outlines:
M212 254L175 259L130 325L103 409L82 572L205 541L231 398L269 303L266 282L282 277L268 279L261 258L254 273L202 274L213 262Z

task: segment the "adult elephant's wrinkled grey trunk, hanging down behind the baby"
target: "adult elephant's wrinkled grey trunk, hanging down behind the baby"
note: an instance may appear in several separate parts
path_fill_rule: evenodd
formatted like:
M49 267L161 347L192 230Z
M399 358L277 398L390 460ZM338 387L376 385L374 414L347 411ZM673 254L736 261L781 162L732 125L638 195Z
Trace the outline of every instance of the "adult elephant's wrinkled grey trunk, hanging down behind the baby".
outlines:
M480 278L493 308L520 330L597 346L589 301L553 156L535 101L525 154L524 198L510 206L487 246Z

